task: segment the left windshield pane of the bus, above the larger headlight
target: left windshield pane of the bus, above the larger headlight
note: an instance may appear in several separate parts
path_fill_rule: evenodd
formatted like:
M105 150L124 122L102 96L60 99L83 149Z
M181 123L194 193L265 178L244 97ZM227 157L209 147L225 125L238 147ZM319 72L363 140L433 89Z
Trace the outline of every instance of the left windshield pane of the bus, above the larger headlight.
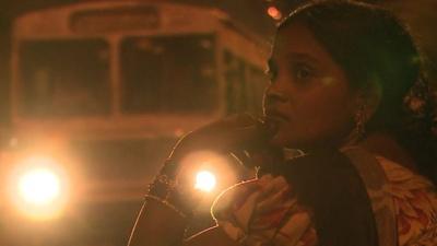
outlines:
M23 43L21 113L29 117L108 114L108 46L103 40Z

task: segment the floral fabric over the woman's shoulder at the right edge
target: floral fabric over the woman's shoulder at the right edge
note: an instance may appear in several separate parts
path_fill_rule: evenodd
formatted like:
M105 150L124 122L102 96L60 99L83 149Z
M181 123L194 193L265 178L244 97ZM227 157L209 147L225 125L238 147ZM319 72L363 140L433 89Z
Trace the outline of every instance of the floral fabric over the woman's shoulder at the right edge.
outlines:
M437 245L437 194L425 177L382 156L376 156L393 199L399 245Z

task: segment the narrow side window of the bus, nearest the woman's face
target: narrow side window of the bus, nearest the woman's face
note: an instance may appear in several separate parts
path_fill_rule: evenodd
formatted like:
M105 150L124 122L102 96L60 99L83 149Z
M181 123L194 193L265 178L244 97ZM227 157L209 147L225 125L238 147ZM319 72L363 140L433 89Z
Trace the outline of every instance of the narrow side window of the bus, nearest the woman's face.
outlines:
M246 98L246 74L245 63L233 54L225 51L225 80L227 114L245 112L247 109Z

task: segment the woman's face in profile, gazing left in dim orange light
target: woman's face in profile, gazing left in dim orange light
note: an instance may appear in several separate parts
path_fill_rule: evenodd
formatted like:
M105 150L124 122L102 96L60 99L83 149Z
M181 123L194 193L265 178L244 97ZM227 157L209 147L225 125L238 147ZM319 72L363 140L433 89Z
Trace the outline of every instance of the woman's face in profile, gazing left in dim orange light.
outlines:
M355 95L342 68L305 25L279 31L269 61L264 112L271 144L340 144L354 126Z

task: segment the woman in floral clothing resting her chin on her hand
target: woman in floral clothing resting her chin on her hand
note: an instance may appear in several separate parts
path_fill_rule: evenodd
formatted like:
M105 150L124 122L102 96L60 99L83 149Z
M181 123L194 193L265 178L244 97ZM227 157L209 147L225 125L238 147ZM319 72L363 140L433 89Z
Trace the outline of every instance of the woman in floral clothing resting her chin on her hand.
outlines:
M405 28L371 5L312 2L279 26L269 73L263 122L231 117L179 141L130 245L182 244L199 198L180 188L180 163L199 149L249 153L261 171L215 201L216 227L184 244L437 245L423 177L435 175L432 107Z

